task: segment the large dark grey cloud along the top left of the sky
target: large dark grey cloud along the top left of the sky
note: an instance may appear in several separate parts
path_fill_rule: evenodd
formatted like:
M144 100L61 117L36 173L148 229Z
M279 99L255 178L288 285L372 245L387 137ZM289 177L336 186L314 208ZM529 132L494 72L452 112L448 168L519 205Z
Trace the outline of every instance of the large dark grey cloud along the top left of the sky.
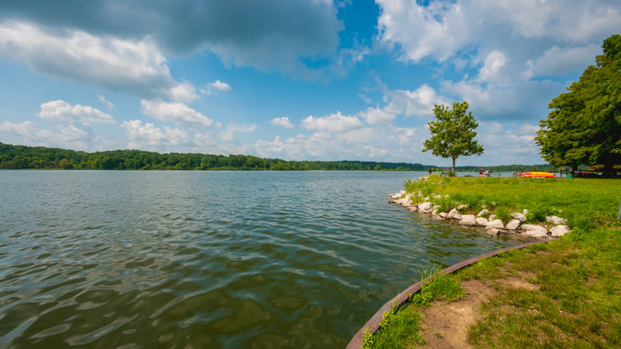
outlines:
M295 14L295 15L292 15ZM299 57L330 54L343 24L333 1L188 0L74 2L71 11L48 1L4 1L0 19L20 18L46 28L72 28L100 37L150 37L172 56L210 50L225 63L293 72ZM243 25L240 25L243 19Z

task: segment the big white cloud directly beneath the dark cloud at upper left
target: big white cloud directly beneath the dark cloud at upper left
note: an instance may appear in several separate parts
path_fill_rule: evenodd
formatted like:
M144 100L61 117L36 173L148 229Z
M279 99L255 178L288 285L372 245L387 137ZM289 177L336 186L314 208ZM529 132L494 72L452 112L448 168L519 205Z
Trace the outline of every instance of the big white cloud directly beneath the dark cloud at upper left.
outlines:
M197 98L190 83L172 79L166 57L148 37L97 37L81 30L46 31L32 23L5 21L0 23L0 54L23 61L36 72L139 97Z

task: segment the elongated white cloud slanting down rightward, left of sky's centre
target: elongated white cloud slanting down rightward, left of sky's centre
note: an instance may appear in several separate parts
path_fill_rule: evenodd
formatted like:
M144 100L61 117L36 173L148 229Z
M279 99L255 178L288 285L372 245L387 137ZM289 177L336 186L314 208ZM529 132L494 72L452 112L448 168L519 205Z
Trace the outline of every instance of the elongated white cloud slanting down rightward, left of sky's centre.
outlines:
M193 126L212 126L213 121L184 103L166 103L164 101L140 101L142 112L159 121L171 121L177 124Z

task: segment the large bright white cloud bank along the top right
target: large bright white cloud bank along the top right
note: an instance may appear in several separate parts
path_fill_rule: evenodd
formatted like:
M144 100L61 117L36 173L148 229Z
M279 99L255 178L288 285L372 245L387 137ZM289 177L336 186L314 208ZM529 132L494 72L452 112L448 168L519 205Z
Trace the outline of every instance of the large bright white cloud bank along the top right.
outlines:
M564 43L601 41L621 28L616 1L377 0L377 39L407 61L445 61L473 45L513 47L523 39ZM476 20L473 20L476 19ZM511 40L507 40L510 37ZM481 39L484 38L483 41Z

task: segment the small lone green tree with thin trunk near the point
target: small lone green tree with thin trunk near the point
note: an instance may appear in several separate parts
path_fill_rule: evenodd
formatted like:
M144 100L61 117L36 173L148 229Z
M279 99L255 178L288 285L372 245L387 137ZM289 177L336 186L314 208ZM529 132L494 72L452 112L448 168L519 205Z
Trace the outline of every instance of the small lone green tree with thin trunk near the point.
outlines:
M431 150L435 156L453 159L453 173L455 173L455 159L461 156L483 154L483 147L475 141L475 129L479 123L467 112L468 102L453 103L453 110L442 104L433 107L436 121L429 121L431 138L424 143L426 152Z

